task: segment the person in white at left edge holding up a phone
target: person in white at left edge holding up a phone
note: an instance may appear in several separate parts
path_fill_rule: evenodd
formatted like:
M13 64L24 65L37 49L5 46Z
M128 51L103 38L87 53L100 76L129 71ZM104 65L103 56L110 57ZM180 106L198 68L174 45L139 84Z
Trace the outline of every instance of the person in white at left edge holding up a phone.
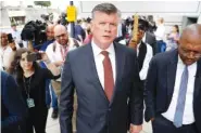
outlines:
M0 44L0 63L1 69L8 70L11 63L11 54L13 51L18 49L18 44L15 44L11 34L0 32L1 44Z

